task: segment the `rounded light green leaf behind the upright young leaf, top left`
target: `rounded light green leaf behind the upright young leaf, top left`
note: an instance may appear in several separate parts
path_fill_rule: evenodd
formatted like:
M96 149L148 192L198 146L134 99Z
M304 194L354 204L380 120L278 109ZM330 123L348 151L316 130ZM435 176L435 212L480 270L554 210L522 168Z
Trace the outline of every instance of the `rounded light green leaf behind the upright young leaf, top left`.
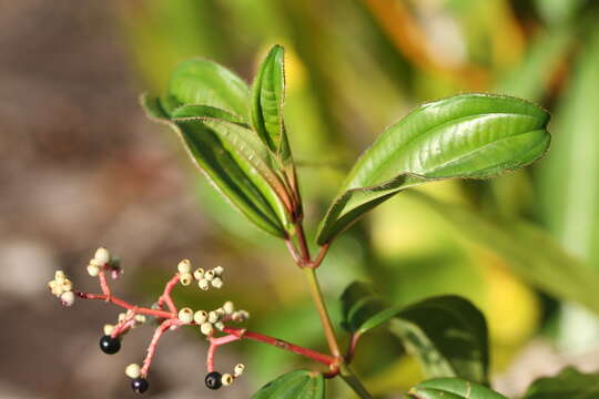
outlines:
M181 105L210 105L248 120L250 89L235 73L202 59L184 61L174 70L169 88Z

